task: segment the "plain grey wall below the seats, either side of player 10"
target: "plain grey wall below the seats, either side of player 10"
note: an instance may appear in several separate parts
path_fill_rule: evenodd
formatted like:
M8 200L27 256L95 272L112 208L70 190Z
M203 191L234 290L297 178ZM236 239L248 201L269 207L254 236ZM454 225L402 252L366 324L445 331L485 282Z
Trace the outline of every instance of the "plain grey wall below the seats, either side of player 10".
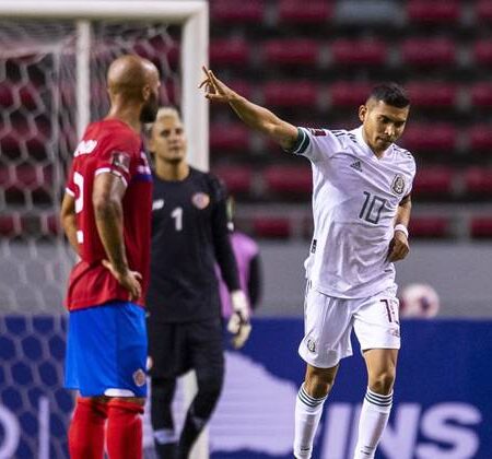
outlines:
M308 243L262 243L265 289L258 316L301 315L303 261ZM441 297L441 316L492 317L492 243L414 243L397 263L400 287L429 283Z

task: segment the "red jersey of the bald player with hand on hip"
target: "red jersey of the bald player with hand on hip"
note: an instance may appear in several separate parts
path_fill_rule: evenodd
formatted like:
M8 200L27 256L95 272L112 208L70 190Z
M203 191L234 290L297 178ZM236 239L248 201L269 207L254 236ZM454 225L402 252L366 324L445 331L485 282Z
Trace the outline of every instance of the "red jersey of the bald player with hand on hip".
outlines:
M142 274L143 306L149 284L152 175L142 140L128 125L117 119L91 123L73 155L67 192L75 199L79 261L69 279L69 310L128 301L129 292L103 267L107 259L95 223L92 202L94 178L112 173L127 186L122 199L124 238L130 270Z

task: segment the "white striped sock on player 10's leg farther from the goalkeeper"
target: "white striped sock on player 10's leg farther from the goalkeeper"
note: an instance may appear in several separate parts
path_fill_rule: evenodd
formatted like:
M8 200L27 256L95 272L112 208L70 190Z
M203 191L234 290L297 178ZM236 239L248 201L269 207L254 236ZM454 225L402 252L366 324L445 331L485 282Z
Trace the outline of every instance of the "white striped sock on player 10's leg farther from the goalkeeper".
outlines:
M353 459L373 459L393 404L393 391L387 396L373 392L370 388L365 392L359 420L359 438Z

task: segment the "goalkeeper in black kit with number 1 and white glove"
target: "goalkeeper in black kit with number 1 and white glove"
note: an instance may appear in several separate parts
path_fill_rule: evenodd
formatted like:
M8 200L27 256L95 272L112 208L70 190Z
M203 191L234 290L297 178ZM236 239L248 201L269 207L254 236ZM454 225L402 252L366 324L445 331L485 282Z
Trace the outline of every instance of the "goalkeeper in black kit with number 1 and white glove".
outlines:
M226 191L186 160L178 111L161 108L149 134L154 161L151 280L148 295L152 362L151 422L160 458L186 459L222 390L224 355L215 263L231 293L229 330L241 345L250 331L227 228ZM178 435L172 402L176 380L190 369L198 392Z

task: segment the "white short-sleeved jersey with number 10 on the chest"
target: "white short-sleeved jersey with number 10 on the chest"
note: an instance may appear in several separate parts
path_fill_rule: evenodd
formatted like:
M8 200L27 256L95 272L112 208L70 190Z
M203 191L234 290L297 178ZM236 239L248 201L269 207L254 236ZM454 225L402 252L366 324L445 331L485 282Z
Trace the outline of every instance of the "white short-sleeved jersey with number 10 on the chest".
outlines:
M380 158L352 131L298 128L294 154L313 169L314 236L306 278L339 298L376 295L395 285L388 247L400 201L415 175L413 156L390 145Z

